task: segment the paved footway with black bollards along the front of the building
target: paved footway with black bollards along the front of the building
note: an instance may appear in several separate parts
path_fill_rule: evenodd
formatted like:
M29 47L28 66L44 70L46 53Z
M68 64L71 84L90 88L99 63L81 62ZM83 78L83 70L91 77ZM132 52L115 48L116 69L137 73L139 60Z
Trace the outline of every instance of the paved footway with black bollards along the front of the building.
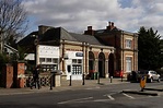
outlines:
M0 87L0 95L15 95L15 94L30 94L30 93L46 93L46 92L60 92L60 91L69 91L69 89L82 89L89 87L98 87L102 85L112 85L112 84L123 84L123 83L130 83L127 82L126 79L115 77L110 79L100 79L98 80L78 80L78 81L61 81L61 86L50 87L50 86L42 86L42 88L31 89L30 87L24 88L3 88Z

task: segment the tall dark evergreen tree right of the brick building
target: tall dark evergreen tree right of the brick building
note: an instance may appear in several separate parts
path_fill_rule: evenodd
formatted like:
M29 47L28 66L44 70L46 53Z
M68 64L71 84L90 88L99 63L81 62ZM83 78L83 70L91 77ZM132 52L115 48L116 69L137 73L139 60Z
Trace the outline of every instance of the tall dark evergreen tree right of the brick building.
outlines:
M160 35L153 28L140 27L138 33L138 67L143 70L161 68Z

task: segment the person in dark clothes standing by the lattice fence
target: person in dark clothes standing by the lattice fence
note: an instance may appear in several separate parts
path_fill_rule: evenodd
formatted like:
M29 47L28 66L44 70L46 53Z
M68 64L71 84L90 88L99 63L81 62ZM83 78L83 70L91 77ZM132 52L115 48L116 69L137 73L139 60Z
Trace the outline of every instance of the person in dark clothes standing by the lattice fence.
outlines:
M35 87L37 86L38 89L40 88L40 85L39 85L39 65L37 65L33 70L33 81L31 83L31 89L33 88L34 84L35 84Z

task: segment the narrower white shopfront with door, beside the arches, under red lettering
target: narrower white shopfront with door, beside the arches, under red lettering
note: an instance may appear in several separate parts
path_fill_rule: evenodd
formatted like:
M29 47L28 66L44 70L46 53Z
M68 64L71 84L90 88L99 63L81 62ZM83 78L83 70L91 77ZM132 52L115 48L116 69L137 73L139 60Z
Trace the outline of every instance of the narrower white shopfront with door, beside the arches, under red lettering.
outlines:
M66 60L67 80L82 80L83 52L66 51L68 59Z

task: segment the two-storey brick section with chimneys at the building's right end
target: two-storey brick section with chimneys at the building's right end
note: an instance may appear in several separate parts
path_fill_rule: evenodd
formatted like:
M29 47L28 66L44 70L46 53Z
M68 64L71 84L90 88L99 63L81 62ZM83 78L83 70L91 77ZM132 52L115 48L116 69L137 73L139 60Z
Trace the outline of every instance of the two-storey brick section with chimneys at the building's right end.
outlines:
M93 29L88 26L84 34L95 36L106 46L115 47L115 71L124 71L125 75L138 70L138 35L117 28L108 22L105 29ZM116 73L116 72L115 72Z

